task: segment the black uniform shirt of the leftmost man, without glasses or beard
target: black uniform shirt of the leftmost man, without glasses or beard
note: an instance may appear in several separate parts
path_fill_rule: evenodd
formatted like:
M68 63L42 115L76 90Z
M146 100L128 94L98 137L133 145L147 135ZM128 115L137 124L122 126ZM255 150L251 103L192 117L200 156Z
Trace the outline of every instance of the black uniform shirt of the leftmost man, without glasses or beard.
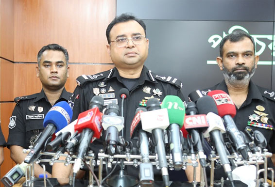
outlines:
M55 102L68 101L70 93L65 89L60 98ZM7 146L19 145L29 148L34 138L44 129L43 121L47 112L52 108L43 89L40 93L23 97L16 97L17 103L9 123L9 137Z

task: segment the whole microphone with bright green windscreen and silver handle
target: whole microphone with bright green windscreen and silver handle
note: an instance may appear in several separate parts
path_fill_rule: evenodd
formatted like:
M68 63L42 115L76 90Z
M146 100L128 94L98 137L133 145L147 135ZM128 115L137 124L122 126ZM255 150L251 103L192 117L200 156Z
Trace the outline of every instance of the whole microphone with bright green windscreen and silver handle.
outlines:
M185 107L182 100L175 95L166 95L162 101L161 109L167 109L169 116L168 137L175 170L181 170L183 165L180 129L183 126Z

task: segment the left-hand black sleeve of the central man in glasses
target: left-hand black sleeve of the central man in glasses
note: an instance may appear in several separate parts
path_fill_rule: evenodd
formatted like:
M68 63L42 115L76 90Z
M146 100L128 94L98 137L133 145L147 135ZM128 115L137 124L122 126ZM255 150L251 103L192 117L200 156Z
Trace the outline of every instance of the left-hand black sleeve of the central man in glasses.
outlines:
M75 88L73 96L70 98L69 101L73 103L72 121L77 119L79 113L89 109L89 101L91 96L93 96L93 93L89 92L89 88L87 86L84 88L82 88L81 86L77 86Z

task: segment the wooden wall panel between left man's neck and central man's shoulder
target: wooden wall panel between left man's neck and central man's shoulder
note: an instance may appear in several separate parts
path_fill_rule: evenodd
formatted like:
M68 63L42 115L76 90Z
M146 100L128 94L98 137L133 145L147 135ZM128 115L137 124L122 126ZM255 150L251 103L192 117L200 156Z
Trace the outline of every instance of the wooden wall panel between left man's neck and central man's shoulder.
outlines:
M69 64L69 78L66 82L66 90L68 92L73 92L75 87L77 86L75 79L79 76L85 75L93 75L102 71L106 71L108 69L113 68L114 65L85 65L85 64Z

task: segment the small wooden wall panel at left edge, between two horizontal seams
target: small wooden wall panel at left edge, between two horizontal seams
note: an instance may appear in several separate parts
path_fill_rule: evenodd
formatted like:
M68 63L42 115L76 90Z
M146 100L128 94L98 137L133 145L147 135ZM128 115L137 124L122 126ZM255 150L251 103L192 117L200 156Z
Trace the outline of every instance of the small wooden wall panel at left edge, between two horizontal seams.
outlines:
M0 101L13 101L14 63L0 59L1 95Z

